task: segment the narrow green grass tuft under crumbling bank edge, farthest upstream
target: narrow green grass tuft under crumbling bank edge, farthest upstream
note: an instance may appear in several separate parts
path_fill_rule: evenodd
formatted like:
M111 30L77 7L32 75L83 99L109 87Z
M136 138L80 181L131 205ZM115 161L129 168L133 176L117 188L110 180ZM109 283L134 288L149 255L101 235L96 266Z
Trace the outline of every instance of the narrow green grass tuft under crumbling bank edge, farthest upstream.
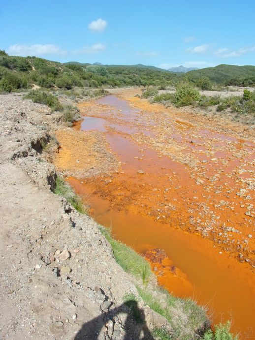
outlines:
M79 213L87 214L87 209L81 198L73 192L70 185L68 185L63 178L59 176L57 177L56 187L53 192L57 195L63 196Z

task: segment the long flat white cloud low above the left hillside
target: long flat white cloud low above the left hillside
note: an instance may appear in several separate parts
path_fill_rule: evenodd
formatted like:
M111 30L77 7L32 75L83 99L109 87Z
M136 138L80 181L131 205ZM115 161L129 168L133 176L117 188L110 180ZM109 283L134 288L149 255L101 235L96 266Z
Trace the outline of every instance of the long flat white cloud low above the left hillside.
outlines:
M8 53L15 56L45 56L45 55L64 55L65 51L60 47L52 44L34 44L34 45L11 45Z

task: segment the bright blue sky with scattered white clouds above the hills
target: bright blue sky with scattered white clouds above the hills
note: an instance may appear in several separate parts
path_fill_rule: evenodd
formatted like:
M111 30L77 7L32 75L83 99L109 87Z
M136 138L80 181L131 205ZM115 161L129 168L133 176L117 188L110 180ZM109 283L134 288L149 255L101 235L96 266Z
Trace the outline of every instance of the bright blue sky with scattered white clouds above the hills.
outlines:
M255 64L253 0L1 0L0 49L59 62Z

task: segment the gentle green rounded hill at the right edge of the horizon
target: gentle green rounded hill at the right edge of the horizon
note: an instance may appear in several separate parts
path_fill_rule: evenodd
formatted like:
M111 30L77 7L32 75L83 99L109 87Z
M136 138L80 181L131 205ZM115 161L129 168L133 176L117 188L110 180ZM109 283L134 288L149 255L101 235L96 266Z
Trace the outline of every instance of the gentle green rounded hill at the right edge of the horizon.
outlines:
M251 79L255 77L255 66L237 66L221 64L215 67L201 68L189 71L186 76L190 80L196 80L200 77L208 77L212 82L224 84L230 79Z

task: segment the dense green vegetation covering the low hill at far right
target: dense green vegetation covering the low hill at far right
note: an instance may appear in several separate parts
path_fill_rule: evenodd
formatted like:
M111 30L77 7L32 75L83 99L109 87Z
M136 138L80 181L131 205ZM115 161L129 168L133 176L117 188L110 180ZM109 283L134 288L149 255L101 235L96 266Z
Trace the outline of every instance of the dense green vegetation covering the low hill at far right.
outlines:
M224 85L255 86L255 66L221 64L189 71L185 75L191 81L207 77L211 82Z

